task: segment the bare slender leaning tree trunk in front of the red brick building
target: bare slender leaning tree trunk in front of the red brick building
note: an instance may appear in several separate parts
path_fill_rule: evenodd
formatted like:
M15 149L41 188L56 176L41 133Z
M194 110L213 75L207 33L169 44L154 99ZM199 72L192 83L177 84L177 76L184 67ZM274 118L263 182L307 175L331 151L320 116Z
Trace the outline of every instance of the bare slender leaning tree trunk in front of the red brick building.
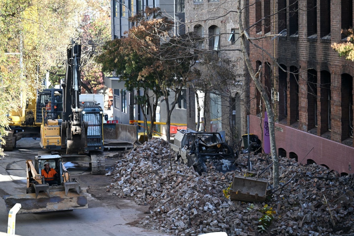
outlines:
M279 160L278 160L278 155L276 153L276 145L275 145L274 112L272 110L272 105L270 104L268 94L265 92L264 87L261 84L262 66L259 66L258 71L255 72L255 69L252 66L250 57L249 57L247 50L246 50L246 40L250 40L250 39L249 39L247 32L244 31L244 28L243 28L241 0L238 0L237 11L238 11L238 19L239 19L239 25L240 25L241 53L244 56L245 63L246 63L247 69L249 70L251 78L255 82L257 90L261 93L261 97L264 102L267 114L268 114L270 152L271 152L272 159L273 159L273 187L276 187L279 185Z

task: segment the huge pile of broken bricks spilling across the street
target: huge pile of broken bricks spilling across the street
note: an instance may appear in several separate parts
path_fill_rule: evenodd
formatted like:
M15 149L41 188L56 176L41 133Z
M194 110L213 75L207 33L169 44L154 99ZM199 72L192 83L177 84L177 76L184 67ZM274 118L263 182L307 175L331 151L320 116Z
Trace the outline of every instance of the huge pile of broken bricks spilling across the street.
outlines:
M267 209L274 212L274 219L262 235L354 233L353 177L339 177L316 164L302 165L295 159L280 158L280 186L272 190L269 185L266 202L246 203L230 201L223 190L230 186L234 174L246 173L247 155L238 158L235 172L215 172L215 167L206 163L207 173L202 175L176 162L168 143L161 139L145 142L124 158L115 164L113 183L108 188L117 197L149 204L150 214L141 226L150 229L181 236L219 231L261 235L261 209ZM252 171L260 173L271 159L251 156L251 162ZM261 178L271 184L270 170Z

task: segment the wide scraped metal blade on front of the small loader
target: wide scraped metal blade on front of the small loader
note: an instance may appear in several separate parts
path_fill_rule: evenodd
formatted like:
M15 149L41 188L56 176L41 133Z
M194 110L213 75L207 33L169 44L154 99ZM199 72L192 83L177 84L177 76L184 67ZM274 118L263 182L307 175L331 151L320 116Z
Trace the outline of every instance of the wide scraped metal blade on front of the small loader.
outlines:
M73 209L88 208L86 190L80 190L80 195L76 191L69 191L65 196L65 191L50 192L50 197L46 192L36 194L20 194L4 196L7 212L15 206L21 204L21 209L17 214L65 211Z

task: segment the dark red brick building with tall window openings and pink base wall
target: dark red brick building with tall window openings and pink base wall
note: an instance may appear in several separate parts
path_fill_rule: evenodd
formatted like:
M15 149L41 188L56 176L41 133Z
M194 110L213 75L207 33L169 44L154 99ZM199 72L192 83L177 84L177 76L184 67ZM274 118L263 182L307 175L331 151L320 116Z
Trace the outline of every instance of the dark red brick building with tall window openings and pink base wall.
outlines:
M252 36L279 33L257 43L278 64L250 47L253 66L262 65L262 83L275 110L279 155L341 174L354 173L354 62L331 48L332 43L346 40L341 29L353 27L353 1L250 0L249 4ZM253 83L250 98L250 132L260 136L259 117L264 111L259 109L260 96Z

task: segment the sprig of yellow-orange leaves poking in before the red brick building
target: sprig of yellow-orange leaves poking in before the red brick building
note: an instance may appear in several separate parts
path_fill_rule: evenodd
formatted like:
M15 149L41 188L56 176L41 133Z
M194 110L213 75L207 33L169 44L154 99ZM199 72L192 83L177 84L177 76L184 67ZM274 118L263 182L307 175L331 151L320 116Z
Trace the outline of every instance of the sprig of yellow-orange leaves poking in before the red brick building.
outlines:
M354 31L352 29L342 30L342 34L347 35L347 42L333 43L332 48L349 61L354 61Z

